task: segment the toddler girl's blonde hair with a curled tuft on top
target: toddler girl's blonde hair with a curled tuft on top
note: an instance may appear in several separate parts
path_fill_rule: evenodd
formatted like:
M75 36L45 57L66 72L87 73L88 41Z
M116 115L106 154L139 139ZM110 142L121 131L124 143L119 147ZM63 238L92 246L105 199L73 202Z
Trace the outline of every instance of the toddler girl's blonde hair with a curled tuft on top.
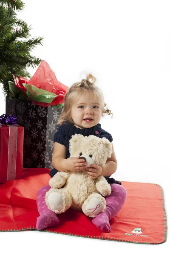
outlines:
M102 90L100 90L94 83L96 78L91 74L86 75L86 79L82 79L82 81L74 83L65 93L65 102L63 106L63 110L61 115L59 116L57 124L61 125L63 122L68 121L69 123L74 124L73 119L71 118L71 108L73 102L76 102L80 96L85 96L89 100L94 99L94 101L99 100L102 107L102 117L106 114L112 115L111 110L105 108L107 104L104 102L104 96ZM111 116L111 118L112 118Z

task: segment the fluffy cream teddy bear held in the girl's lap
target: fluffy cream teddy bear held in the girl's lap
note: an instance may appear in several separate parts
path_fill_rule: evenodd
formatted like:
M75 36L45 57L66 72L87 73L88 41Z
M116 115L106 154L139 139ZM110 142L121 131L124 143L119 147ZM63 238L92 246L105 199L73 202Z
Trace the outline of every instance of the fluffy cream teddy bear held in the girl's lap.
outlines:
M69 141L70 157L85 159L90 164L103 166L112 154L112 143L107 138L94 135L75 134ZM106 196L111 194L111 186L103 176L92 180L86 170L77 172L57 172L49 180L51 189L45 194L48 209L60 214L70 207L89 217L96 217L106 208Z

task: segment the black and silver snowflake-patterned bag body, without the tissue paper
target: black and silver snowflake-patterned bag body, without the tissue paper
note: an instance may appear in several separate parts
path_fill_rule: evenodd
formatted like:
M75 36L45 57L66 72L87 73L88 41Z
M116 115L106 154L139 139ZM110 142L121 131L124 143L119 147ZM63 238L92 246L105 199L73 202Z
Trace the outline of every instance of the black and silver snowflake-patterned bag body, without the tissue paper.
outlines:
M6 114L16 115L24 126L23 168L53 168L53 138L62 108L6 97Z

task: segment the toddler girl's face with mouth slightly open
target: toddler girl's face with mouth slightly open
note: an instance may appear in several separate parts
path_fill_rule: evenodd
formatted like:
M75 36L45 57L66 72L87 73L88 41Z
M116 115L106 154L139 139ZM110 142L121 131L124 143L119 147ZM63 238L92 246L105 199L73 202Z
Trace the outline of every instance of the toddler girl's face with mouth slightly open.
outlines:
M81 96L76 103L72 105L71 117L74 126L80 129L91 128L97 125L102 116L102 108L99 102L90 102ZM91 120L90 120L91 119Z

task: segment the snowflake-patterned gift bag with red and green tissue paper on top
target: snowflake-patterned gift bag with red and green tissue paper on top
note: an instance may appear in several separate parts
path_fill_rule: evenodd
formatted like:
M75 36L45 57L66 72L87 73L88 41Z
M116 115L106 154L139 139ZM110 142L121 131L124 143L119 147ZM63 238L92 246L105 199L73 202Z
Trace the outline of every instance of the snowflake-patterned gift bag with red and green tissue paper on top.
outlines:
M15 114L24 126L23 167L52 169L53 138L68 87L44 60L30 80L20 76L8 84L6 113Z

